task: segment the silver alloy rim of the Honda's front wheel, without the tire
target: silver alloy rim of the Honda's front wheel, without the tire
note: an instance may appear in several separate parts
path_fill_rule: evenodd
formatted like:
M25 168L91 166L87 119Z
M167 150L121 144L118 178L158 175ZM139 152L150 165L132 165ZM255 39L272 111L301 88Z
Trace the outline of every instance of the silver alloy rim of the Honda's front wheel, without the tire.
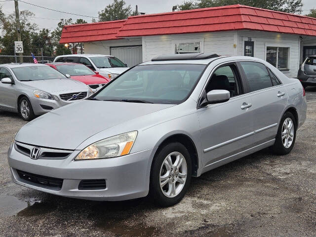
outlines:
M187 180L187 161L179 152L170 153L160 168L160 189L166 197L176 197Z

